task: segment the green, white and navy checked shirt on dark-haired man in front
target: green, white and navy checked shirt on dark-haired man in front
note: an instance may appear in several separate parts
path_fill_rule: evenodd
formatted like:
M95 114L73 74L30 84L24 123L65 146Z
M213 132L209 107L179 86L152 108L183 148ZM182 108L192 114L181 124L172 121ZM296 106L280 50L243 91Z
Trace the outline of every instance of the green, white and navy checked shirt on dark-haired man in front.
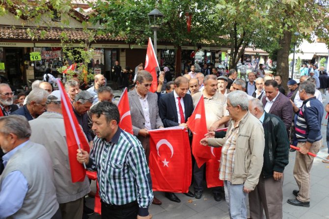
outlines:
M138 139L118 128L109 142L95 137L93 145L87 167L97 171L102 201L123 205L137 200L138 215L147 216L153 192L150 170Z

